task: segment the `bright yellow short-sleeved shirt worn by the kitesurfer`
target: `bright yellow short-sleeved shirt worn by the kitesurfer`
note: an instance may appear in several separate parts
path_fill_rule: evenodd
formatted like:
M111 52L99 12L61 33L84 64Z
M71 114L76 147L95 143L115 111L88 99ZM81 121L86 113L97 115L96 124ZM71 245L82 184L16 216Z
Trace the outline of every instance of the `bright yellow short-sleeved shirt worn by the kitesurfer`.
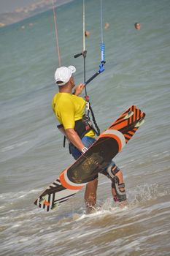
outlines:
M53 97L52 108L64 129L74 129L75 121L82 119L85 112L85 99L74 94L59 92ZM85 136L94 138L95 133L90 130Z

